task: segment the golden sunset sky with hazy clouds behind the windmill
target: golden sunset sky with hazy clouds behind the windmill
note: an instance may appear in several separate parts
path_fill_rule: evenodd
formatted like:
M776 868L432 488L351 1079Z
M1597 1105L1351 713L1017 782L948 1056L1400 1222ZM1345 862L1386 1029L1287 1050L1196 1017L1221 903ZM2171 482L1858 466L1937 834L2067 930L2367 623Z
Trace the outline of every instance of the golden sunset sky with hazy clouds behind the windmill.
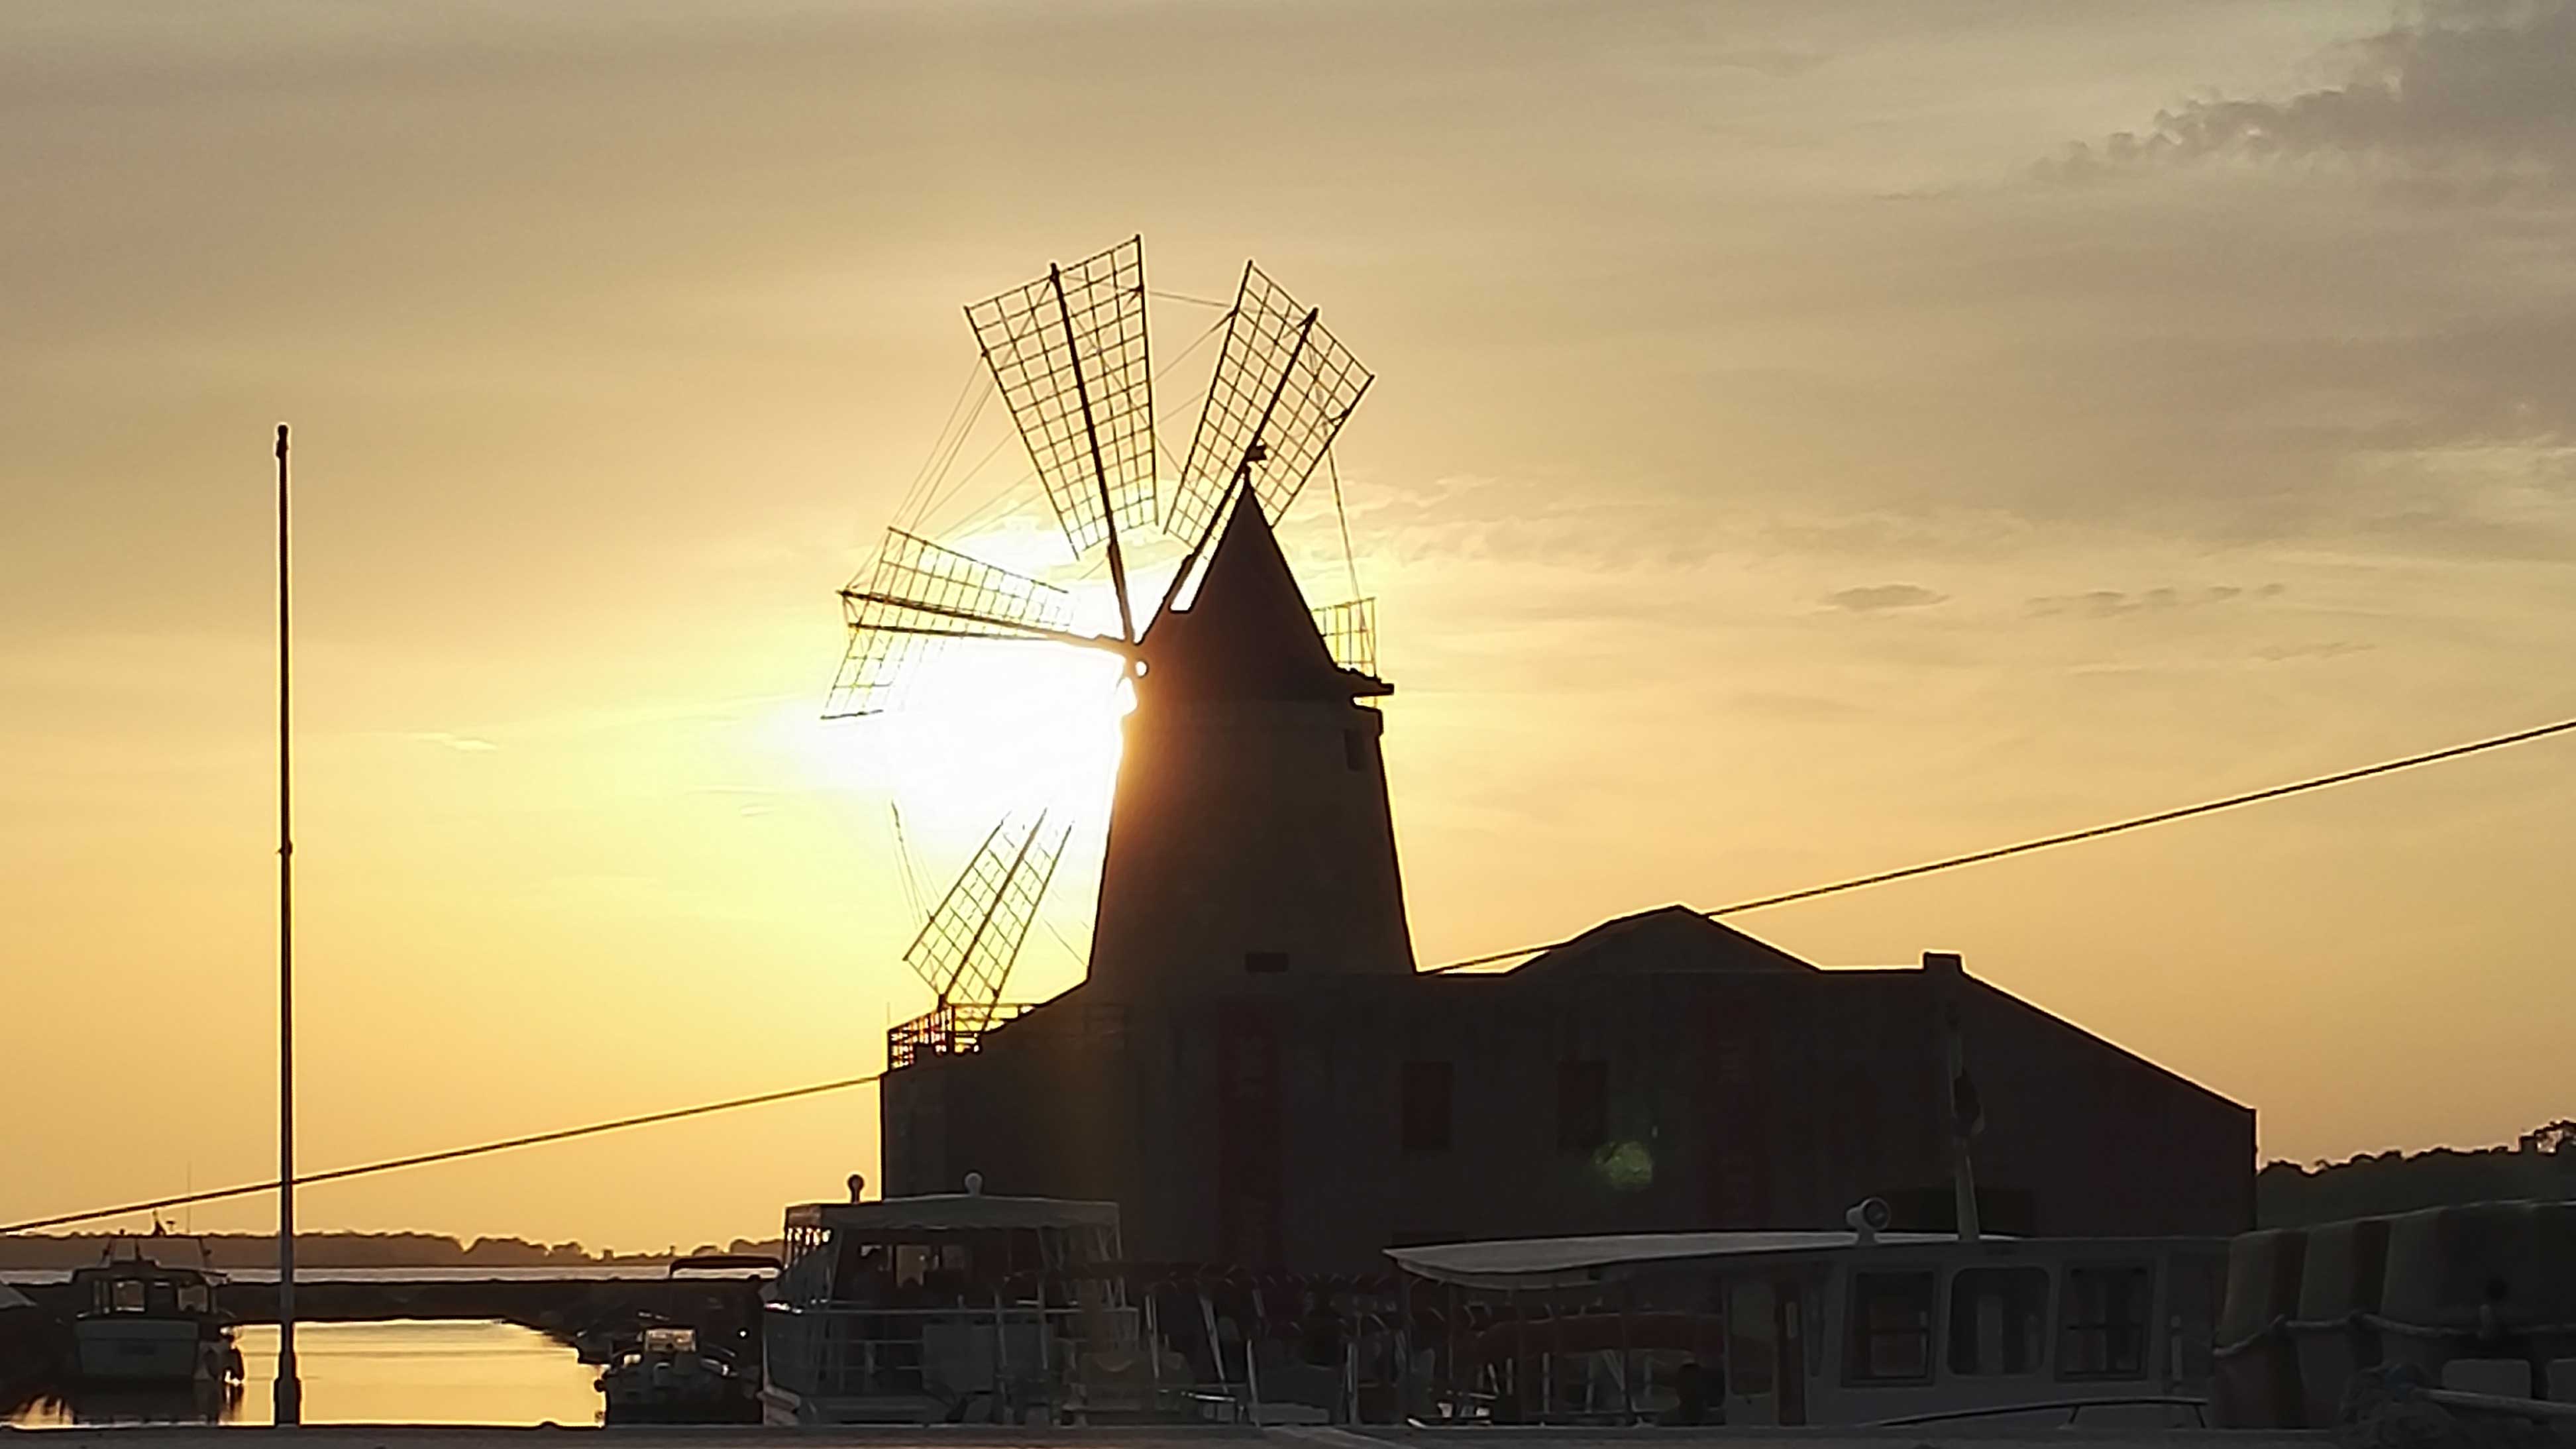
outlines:
M935 887L1105 724L824 724L832 590L961 304L1136 232L1378 374L1358 557L1280 531L1378 598L1425 964L2576 714L2568 3L21 0L0 188L0 1220L273 1168L278 420L304 1163L876 1067L889 799ZM925 529L1097 614L1025 472L987 407ZM1736 926L2342 1158L2576 1109L2571 851L2553 740ZM304 1220L688 1245L873 1158L855 1091Z

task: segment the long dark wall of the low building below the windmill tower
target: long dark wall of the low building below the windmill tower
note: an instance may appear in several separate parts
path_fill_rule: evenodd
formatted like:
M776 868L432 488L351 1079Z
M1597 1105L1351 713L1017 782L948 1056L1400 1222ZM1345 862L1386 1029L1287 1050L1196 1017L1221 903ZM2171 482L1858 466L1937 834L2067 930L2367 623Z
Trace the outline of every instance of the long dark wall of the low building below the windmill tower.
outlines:
M1074 990L889 1075L886 1191L981 1171L1115 1199L1133 1258L1293 1271L1373 1271L1399 1238L1837 1227L1862 1196L1947 1191L1929 972L1265 987L1115 1008ZM2249 1109L1981 982L1963 1036L1978 1186L2027 1201L2032 1230L2251 1225ZM1450 1062L1445 1150L1401 1145L1406 1062ZM1597 1150L1558 1137L1566 1062L1602 1065Z

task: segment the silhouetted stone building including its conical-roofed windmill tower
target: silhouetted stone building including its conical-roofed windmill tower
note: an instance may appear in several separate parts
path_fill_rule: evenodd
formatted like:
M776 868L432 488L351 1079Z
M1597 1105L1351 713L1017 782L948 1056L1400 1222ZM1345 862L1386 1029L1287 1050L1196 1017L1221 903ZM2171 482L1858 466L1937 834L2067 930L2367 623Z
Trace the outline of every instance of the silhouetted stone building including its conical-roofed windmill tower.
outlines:
M884 1189L1118 1201L1136 1261L1373 1271L1394 1243L1947 1222L1955 1008L1996 1232L2236 1232L2254 1111L1955 959L1816 969L1685 908L1422 975L1386 686L1257 505L1144 639L1090 980L889 1036Z

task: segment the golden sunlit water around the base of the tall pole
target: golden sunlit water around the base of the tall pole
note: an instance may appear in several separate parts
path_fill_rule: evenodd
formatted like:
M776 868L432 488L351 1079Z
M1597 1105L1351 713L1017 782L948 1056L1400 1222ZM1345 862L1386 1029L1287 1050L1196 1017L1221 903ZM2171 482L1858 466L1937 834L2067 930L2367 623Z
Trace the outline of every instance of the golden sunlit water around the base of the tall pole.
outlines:
M245 1382L237 1395L131 1390L77 1403L39 1400L8 1423L62 1428L108 1421L270 1423L278 1330L234 1330ZM304 1323L296 1328L304 1423L600 1423L598 1369L569 1346L515 1323Z

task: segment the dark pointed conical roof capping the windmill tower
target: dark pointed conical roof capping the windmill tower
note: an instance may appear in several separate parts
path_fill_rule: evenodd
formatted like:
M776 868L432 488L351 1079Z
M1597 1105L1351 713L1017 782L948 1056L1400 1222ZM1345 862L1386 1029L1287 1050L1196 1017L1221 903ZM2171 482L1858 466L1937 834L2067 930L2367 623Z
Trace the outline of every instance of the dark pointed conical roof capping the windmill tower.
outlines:
M1306 596L1247 490L1208 554L1198 598L1144 634L1146 691L1190 699L1350 699L1373 681L1332 663Z

